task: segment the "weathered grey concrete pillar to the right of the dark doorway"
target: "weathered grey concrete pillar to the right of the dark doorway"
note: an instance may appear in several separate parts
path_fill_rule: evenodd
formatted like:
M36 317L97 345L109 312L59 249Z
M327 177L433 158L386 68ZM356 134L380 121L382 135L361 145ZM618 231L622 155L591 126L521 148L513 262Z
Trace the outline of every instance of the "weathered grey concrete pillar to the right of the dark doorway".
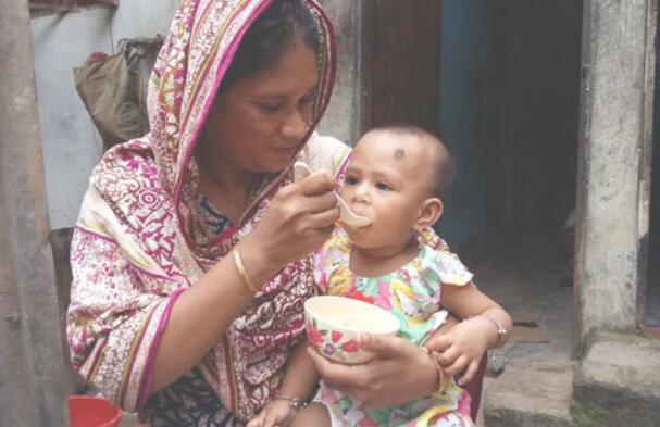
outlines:
M634 331L647 268L657 0L584 2L576 353Z

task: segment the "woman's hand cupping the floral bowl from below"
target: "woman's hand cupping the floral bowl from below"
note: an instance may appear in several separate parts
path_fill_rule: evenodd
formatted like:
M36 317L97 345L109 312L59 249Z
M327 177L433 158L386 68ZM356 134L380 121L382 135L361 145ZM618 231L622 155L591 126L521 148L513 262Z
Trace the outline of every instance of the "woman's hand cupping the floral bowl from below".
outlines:
M437 387L433 361L412 342L399 337L362 334L359 346L376 354L364 365L341 365L308 349L323 380L359 399L366 406L398 405L429 394Z

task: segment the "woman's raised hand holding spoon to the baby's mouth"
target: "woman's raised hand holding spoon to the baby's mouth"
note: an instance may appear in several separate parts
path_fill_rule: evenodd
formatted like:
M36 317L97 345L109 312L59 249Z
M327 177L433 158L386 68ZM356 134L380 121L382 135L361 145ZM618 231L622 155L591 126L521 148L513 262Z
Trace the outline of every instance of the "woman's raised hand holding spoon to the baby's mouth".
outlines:
M248 271L254 263L270 262L281 268L319 248L339 218L329 172L316 172L279 190L259 225L241 243Z

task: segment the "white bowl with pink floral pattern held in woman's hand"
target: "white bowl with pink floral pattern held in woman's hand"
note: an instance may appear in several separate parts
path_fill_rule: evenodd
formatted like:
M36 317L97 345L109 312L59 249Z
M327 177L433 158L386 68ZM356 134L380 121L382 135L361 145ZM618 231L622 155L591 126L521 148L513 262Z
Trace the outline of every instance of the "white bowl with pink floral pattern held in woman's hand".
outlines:
M375 354L358 346L358 335L396 335L399 319L386 310L369 302L347 297L319 296L304 302L307 337L310 344L325 357L357 365Z

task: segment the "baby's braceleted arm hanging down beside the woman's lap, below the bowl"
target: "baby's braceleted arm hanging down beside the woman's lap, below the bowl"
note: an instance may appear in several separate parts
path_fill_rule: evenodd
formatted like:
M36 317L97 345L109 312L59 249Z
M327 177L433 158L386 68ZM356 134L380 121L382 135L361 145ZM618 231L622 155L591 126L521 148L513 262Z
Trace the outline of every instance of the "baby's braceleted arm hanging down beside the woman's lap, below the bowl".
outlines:
M286 427L302 402L309 399L319 374L307 354L307 340L299 343L286 364L277 397L270 401L246 427Z

